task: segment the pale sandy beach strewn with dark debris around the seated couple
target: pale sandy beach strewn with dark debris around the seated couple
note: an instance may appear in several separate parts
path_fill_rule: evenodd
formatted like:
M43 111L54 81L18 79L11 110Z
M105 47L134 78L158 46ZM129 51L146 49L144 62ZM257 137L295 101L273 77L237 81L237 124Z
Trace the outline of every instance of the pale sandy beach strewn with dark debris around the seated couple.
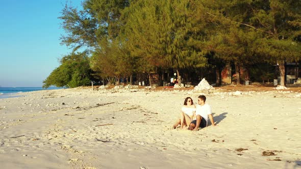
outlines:
M217 126L171 129L204 94ZM301 93L60 89L0 99L1 168L301 168Z

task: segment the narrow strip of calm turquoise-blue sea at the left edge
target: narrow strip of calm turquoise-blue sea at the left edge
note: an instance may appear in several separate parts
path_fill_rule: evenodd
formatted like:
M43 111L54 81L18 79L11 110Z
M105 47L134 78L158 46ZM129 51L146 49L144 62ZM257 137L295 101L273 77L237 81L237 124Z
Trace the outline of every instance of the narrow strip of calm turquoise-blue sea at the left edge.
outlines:
M0 99L9 98L9 97L18 97L21 96L23 92L32 92L32 91L41 91L41 90L54 90L62 89L51 87L48 89L43 89L40 87L15 87L15 88L0 88ZM17 93L17 95L15 95ZM13 94L13 95L12 95Z

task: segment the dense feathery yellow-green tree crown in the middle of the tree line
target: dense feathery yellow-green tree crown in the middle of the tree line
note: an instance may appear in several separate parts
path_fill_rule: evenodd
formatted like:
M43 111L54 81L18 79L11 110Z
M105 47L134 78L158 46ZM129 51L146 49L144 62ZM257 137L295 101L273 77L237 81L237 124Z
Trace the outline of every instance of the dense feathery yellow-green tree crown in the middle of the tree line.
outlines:
M189 17L194 12L190 1L159 0L135 1L124 10L126 46L144 61L144 71L205 66L206 58L196 47L200 30L192 29Z

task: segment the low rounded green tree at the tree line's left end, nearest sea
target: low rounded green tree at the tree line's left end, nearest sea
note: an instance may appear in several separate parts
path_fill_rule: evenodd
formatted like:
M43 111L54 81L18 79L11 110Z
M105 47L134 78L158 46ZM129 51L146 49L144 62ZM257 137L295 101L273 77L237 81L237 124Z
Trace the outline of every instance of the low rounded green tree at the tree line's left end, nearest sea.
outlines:
M91 74L89 63L86 52L66 55L61 59L61 65L43 81L43 88L52 85L70 88L89 85Z

